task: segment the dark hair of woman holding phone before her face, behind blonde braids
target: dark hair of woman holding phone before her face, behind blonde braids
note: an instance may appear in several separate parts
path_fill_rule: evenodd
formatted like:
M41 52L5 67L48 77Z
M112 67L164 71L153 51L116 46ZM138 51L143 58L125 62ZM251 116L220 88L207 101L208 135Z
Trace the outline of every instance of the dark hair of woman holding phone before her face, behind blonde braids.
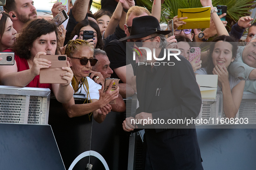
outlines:
M75 26L74 30L71 32L70 39L72 39L75 35L79 35L81 28L86 27L88 25L91 26L91 28L94 28L97 33L96 48L99 48L100 50L102 50L104 46L103 46L103 41L102 41L102 37L101 37L101 33L100 33L100 28L99 28L99 25L97 25L97 23L95 23L94 21L84 19L84 20L78 22L78 24Z

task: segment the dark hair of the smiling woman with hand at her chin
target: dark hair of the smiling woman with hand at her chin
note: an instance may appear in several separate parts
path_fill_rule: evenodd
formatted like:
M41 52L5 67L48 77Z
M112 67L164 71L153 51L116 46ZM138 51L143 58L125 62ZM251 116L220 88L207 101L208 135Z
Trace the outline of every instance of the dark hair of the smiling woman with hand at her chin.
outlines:
M235 60L237 57L237 42L234 38L227 36L227 35L221 35L221 36L215 38L212 41L213 43L211 43L210 49L208 51L207 62L203 66L203 68L206 68L207 74L213 74L212 71L215 66L214 66L214 63L212 60L212 54L214 51L215 44L218 41L229 42L232 45L232 58ZM227 70L229 70L229 66L228 66Z

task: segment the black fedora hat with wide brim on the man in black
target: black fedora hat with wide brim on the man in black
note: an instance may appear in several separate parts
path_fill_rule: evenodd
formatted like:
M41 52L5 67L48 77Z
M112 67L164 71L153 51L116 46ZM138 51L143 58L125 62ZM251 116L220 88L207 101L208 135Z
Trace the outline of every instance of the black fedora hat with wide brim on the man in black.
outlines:
M120 38L119 41L124 41L132 38L143 38L154 33L167 35L170 32L171 31L161 31L159 22L154 16L140 16L133 19L130 36Z

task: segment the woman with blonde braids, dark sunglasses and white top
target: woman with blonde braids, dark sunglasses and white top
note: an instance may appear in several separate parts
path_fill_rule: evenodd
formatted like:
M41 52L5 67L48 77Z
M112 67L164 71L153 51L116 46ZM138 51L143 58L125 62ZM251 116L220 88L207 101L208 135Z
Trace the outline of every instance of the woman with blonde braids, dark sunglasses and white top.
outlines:
M104 91L104 84L101 87L88 77L92 66L97 63L97 59L94 58L93 48L87 41L78 39L69 41L65 54L68 56L70 67L74 73L71 85L75 94L84 94L87 98L86 104L75 104L74 98L63 104L68 116L75 117L85 114L91 116L92 113L94 119L101 123L112 109L109 103L118 97L119 87L115 91L110 91L112 82L110 88Z

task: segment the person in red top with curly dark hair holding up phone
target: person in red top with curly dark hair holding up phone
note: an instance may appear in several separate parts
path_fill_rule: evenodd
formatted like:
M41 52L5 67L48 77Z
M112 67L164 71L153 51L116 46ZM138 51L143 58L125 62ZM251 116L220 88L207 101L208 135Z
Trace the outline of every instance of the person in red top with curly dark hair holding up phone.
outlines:
M67 80L67 83L39 83L40 69L49 68L51 66L49 60L39 58L39 55L54 55L57 48L57 37L57 26L53 22L45 19L35 19L28 22L13 45L13 51L16 54L14 65L0 66L1 84L21 87L51 88L59 102L67 103L74 93L70 85L73 72L68 62L68 67L62 68L67 72L60 75L62 79Z

